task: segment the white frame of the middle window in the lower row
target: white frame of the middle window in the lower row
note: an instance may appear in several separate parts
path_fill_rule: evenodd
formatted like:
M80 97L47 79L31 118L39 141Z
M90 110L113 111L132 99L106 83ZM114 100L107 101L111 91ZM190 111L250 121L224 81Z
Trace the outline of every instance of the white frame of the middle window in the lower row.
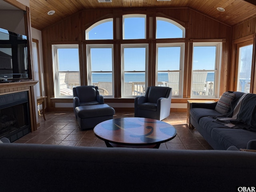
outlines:
M145 71L124 70L124 48L145 48ZM145 72L145 90L148 87L148 44L121 44L121 98L135 98L137 95L125 95L124 74Z

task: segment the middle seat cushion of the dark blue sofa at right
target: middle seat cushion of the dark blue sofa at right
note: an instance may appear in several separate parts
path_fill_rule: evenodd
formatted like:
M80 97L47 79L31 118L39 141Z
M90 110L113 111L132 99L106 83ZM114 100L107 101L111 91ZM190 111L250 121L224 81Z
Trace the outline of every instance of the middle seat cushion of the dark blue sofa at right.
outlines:
M214 120L215 118L212 117L202 117L200 118L198 123L200 127L203 127L204 131L206 131L209 134L209 136L211 135L213 129L228 128L225 125L214 122Z

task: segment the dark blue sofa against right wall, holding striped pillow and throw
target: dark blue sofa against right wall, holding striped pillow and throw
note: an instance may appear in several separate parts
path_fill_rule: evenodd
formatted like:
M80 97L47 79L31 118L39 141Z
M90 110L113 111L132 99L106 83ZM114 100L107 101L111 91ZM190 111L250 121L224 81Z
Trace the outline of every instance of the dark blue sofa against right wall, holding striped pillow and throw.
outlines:
M244 93L233 92L239 99ZM253 104L254 101L252 101ZM215 110L215 103L192 103L190 109L190 123L192 127L216 150L226 150L230 146L244 149L256 149L256 132L229 128L214 121L214 116L221 113ZM256 125L255 125L256 126Z

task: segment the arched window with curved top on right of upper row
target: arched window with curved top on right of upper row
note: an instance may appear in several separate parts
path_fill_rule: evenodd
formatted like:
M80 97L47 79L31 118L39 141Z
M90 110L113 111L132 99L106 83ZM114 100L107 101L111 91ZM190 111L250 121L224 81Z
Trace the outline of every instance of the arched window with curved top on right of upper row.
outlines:
M185 38L185 28L168 18L156 17L156 38Z

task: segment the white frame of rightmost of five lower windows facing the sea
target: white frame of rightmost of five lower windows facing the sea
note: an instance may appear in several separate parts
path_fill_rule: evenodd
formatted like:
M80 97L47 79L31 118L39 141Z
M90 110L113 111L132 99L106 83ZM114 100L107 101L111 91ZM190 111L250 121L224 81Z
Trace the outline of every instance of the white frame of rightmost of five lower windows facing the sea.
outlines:
M216 46L215 53L215 66L214 70L206 70L207 72L214 72L214 90L212 95L192 95L193 83L193 63L194 63L194 47L195 46ZM190 98L219 98L220 96L220 73L221 73L221 60L222 60L222 42L193 42L192 48L192 66L191 66L191 83L190 83ZM203 69L202 69L203 70Z

